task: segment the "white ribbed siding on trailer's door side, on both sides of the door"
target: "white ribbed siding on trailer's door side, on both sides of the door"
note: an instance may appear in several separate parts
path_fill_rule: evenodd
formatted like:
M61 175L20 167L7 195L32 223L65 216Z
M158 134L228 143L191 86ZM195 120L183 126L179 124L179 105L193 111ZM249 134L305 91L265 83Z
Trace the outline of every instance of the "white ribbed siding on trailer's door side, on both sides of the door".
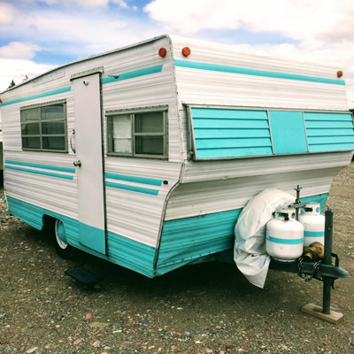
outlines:
M160 47L167 49L165 58L158 56ZM149 247L156 247L166 196L180 178L182 159L181 123L178 115L171 55L169 38L163 36L156 41L142 43L127 50L115 51L105 56L66 65L58 68L57 71L42 75L37 80L29 81L20 85L19 88L2 94L4 102L12 101L12 104L5 104L1 107L5 132L4 158L36 165L73 167L76 156L70 147L68 147L68 153L21 150L20 107L65 99L67 134L70 136L75 127L73 87L70 81L73 74L103 67L103 78L110 78L111 75L130 73L154 65L162 65L161 72L135 75L132 78L126 75L125 80L112 81L102 85L103 114L106 111L118 109L154 105L168 106L168 160L105 157L105 173L116 173L137 179L142 178L141 181L144 178L165 181L158 187L145 185L138 180L119 181L123 187L127 186L126 189L106 187L108 242L112 249L115 247L114 235L142 242ZM66 88L63 93L45 95L46 92L50 91L60 92L63 88ZM34 96L36 97L34 99L17 102L17 100L21 101L23 97L33 98ZM105 117L103 120L104 151L106 152ZM74 140L73 145L75 145ZM110 174L107 174L105 182L107 185L111 183L112 186L112 183L117 181L112 181L109 176ZM73 180L66 181L49 175L7 169L5 189L8 196L38 206L42 210L77 219L78 195L75 175L73 175ZM158 189L157 195L139 192L144 189ZM75 237L71 237L73 238L69 238L68 241L78 245Z

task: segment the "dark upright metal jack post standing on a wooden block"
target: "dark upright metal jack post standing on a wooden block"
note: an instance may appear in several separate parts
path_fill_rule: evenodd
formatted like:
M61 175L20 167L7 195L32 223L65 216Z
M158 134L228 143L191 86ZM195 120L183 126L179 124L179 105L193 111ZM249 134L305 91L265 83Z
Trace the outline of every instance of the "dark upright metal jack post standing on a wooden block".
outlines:
M325 257L323 258L322 263L324 265L332 264L332 242L333 242L333 212L332 209L328 206L327 211L325 212ZM332 278L324 277L323 280L323 305L322 313L329 314L331 313L331 286Z

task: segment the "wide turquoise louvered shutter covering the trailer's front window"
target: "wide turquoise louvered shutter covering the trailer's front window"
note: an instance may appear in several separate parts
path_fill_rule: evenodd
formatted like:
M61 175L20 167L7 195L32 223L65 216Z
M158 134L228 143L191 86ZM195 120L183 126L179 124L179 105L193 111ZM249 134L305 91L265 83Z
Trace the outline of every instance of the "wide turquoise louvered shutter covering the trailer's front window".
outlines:
M195 159L354 150L350 113L189 107Z

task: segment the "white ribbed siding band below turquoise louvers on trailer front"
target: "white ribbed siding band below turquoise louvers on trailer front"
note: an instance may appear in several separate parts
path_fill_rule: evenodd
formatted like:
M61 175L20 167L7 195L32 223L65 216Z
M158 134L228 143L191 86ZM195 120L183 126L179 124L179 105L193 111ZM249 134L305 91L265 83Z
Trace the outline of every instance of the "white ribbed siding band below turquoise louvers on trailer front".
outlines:
M351 156L351 151L345 151L191 162L184 170L183 184L168 201L165 220L242 208L267 188L295 196L299 184L303 197L328 193L335 174L349 164Z

